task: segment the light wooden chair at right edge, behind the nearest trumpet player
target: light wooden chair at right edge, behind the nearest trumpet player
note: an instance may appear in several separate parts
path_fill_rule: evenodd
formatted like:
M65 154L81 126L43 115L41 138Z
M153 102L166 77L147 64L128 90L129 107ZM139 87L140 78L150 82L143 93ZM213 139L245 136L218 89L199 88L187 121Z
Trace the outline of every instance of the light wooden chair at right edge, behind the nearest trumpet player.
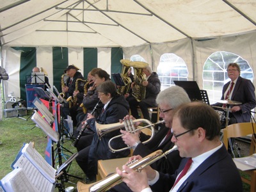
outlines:
M256 152L256 139L253 135L253 129L256 129L255 123L239 123L228 125L225 129L223 129L223 143L226 148L228 148L228 138L238 138L241 136L247 136L248 134L252 134L252 141L250 146L250 155ZM256 191L256 170L248 170L244 171L244 173L250 175L251 179L246 179L241 176L243 182L250 184L251 190Z

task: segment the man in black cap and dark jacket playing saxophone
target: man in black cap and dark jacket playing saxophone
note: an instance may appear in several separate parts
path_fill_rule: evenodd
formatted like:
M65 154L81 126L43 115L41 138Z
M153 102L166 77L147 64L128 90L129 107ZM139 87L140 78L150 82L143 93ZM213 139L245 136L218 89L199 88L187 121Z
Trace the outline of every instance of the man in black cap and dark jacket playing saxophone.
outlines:
M84 77L81 74L81 72L78 72L77 70L79 70L79 68L77 68L74 65L68 65L68 67L65 70L65 73L67 73L68 75L68 79L67 79L67 86L64 86L62 88L62 92L63 93L67 93L67 98L68 97L73 97L73 93L76 90L76 80L77 79L83 79ZM83 95L84 93L84 82L79 82L78 83L78 90L79 93L81 95ZM81 103L81 101L79 100L79 97L77 97L77 104ZM74 108L77 108L77 104L74 104ZM70 114L70 110L72 111L72 109L69 109L69 104L63 104L63 109L62 109L62 113L63 113L63 118L67 118L67 115L70 115L72 117L73 120L73 124L76 125L76 112L75 114L72 112L72 114Z

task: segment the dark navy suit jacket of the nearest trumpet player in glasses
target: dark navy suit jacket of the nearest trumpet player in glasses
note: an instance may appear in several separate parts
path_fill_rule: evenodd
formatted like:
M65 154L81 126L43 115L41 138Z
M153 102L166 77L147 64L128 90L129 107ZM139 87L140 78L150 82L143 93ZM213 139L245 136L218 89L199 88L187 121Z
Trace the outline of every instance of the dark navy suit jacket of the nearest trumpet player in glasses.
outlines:
M175 178L182 171L188 159L182 159L179 170L174 175L160 173L160 178L151 186L152 191L170 191ZM243 191L241 177L231 156L223 145L212 156L208 157L178 191Z

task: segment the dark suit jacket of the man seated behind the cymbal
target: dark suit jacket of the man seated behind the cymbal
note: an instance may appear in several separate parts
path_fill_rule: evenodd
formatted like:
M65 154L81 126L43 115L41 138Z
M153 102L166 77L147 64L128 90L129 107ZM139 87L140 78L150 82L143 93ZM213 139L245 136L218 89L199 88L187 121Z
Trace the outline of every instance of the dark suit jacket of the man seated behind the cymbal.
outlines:
M221 100L224 100L224 93L228 88L228 84L230 81L223 86L222 97ZM244 79L243 77L238 77L237 82L234 87L234 91L232 93L231 100L236 100L242 102L239 107L240 111L236 113L232 113L237 120L237 123L241 122L250 122L251 113L250 111L255 108L255 88L252 82L248 79ZM214 104L214 106L222 106L223 104ZM230 105L230 108L233 106Z

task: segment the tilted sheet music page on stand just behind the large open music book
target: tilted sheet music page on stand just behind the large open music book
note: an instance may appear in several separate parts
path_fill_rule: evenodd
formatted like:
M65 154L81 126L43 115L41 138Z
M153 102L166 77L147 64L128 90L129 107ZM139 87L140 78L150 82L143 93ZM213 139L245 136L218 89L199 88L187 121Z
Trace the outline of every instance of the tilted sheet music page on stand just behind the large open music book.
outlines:
M34 115L31 117L31 120L33 120L33 122L35 122L35 124L37 124L45 132L45 134L51 138L52 141L59 141L59 133L54 131L37 111L35 111Z

